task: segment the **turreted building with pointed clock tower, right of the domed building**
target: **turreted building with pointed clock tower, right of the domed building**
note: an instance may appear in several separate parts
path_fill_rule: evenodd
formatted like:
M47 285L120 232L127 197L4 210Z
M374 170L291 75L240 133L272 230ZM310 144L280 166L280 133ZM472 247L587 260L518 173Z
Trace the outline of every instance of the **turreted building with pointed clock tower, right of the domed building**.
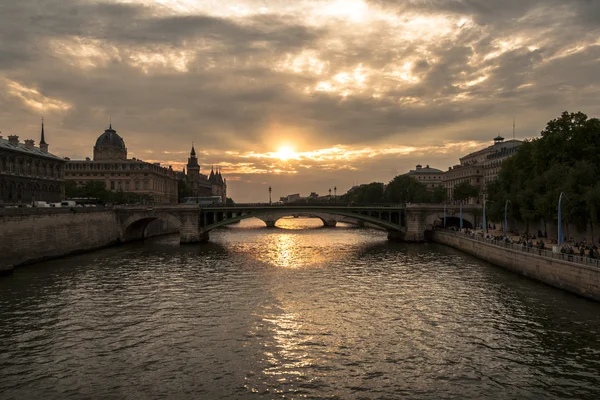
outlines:
M214 168L211 168L209 176L200 173L200 164L193 145L188 158L187 173L184 169L183 176L193 197L219 196L221 202L227 201L227 180L223 178L219 169L215 172Z

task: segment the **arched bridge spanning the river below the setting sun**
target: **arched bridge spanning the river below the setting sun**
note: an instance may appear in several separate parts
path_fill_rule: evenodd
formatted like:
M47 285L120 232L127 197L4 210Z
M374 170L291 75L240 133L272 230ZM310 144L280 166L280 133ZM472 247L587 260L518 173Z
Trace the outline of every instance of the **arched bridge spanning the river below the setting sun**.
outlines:
M463 226L478 223L479 206L465 207ZM274 227L277 219L292 215L311 215L320 218L325 226L335 226L332 216L353 219L358 223L375 225L388 232L388 238L410 242L426 239L427 231L441 224L444 206L441 204L407 204L355 206L342 204L268 205L251 204L235 206L142 206L115 207L117 222L121 229L121 241L144 238L146 226L156 219L168 221L178 227L181 243L203 243L209 232L237 223L247 218L263 220L267 227ZM448 225L458 226L459 207L446 206Z

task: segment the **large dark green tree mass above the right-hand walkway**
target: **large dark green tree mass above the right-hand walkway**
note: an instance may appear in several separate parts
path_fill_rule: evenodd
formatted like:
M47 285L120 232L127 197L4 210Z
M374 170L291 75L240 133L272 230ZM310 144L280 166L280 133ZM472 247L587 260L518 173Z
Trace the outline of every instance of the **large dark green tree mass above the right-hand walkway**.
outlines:
M489 215L500 217L507 200L511 218L554 222L561 192L565 221L583 230L600 222L600 121L564 112L540 137L526 141L504 161L498 180L487 187ZM593 228L593 225L592 225Z

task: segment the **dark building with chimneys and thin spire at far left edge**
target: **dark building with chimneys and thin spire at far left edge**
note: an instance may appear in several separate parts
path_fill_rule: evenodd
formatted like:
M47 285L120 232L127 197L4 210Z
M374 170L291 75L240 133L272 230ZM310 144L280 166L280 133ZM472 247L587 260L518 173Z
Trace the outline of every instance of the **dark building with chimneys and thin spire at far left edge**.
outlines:
M64 198L66 161L48 153L43 122L39 147L34 143L0 136L0 203L54 203Z

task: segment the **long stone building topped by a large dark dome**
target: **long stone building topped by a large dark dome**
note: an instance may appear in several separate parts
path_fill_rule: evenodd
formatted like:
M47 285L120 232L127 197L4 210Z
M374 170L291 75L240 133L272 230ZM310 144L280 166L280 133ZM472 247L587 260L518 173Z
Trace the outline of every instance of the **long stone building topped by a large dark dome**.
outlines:
M65 180L78 185L100 181L111 191L145 195L153 203L177 204L177 178L173 168L127 158L125 142L112 124L96 140L93 160L67 162Z

